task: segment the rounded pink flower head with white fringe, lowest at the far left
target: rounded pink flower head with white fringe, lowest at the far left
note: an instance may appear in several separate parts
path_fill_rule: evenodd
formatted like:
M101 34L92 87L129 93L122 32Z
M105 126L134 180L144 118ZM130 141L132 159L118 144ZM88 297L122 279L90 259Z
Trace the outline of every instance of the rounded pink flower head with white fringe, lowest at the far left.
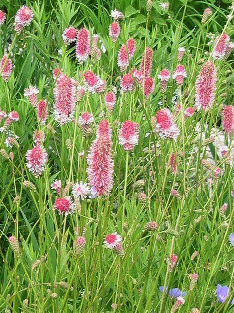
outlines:
M48 154L44 147L36 146L26 153L26 166L35 177L39 177L45 170L45 165L48 161Z

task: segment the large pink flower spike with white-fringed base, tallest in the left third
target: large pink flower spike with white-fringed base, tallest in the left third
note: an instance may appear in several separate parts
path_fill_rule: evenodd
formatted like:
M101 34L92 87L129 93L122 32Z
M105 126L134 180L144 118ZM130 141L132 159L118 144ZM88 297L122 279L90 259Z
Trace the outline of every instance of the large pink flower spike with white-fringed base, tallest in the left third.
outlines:
M60 125L72 120L75 104L75 80L64 74L59 75L54 89L54 118Z

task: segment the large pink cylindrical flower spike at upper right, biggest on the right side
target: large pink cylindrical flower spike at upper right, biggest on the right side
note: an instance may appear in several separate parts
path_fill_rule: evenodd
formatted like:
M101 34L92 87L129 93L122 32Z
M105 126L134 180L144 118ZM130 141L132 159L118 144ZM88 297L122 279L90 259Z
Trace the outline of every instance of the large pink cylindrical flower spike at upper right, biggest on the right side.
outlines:
M198 110L212 107L216 90L216 70L211 61L207 61L201 68L200 74L195 82L195 104Z

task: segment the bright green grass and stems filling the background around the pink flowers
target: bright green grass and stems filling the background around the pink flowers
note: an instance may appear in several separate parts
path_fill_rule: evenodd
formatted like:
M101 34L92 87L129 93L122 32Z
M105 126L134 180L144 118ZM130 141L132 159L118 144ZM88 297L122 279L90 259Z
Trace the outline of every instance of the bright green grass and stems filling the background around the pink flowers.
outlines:
M222 167L224 173L210 188L207 180L212 173L201 165L202 156L206 158L207 146L202 145L196 133L197 124L205 138L210 136L212 127L222 129L222 104L232 104L233 100L231 57L228 61L216 62L219 80L212 110L196 112L185 122L182 122L181 115L177 117L180 128L177 142L161 140L150 126L151 117L160 109L157 75L164 67L173 72L179 46L186 47L182 63L187 71L180 101L183 109L194 105L195 79L201 67L198 61L207 60L205 51L211 51L207 46L207 33L225 31L229 36L233 33L231 23L226 23L230 3L223 1L225 3L222 2L219 8L214 5L215 1L169 2L168 18L168 14L162 15L158 0L153 2L149 15L146 14L145 1L26 1L35 13L33 23L25 36L17 37L12 46L14 72L9 82L0 78L1 109L7 112L14 109L20 114L20 121L12 128L20 137L20 148L6 148L5 135L0 134L0 148L14 154L13 162L0 157L0 312L8 308L15 313L99 313L114 311L112 303L118 304L116 312L170 312L174 300L166 294L162 297L159 286L164 284L187 292L180 312L190 312L193 307L206 313L233 312L228 303L217 302L215 295L217 283L231 287L234 274L228 240L233 214L230 197L232 168L218 158L216 148L211 144L215 166ZM7 22L0 33L3 43L0 56L5 48L9 48L9 37L14 38L14 14L22 4L20 0L1 0L0 9L7 12ZM207 6L212 9L213 16L201 27L201 16ZM109 14L114 8L126 15L115 45L108 37ZM66 50L61 38L69 25L77 28L84 25L100 35L106 53L99 62L77 64L73 58L74 48ZM146 46L154 50L152 75L155 91L149 99L144 99L140 90L126 95L117 93L115 110L106 117L113 129L113 190L107 198L82 201L80 214L76 212L63 218L53 210L55 193L50 184L55 178L64 182L68 179L71 182L86 180L85 156L95 138L96 126L101 120L99 115L106 112L104 98L87 94L77 104L76 120L80 112L86 110L92 111L95 117L94 134L91 139L85 139L74 123L56 127L52 116L48 123L55 129L55 134L48 128L41 128L35 110L23 97L23 90L30 83L37 85L39 97L48 99L52 110L52 69L56 66L75 79L79 79L80 71L90 69L107 80L108 87L111 81L119 87L116 78L121 74L117 67L117 52L130 37L137 42L131 66L139 66ZM62 49L61 55L58 49ZM176 85L170 80L167 92L170 109L173 109L171 99L175 89ZM129 155L118 144L116 126L117 122L127 119L140 124L139 144ZM36 179L26 169L25 154L32 148L33 131L39 128L45 132L44 146L49 162L43 175ZM66 139L72 141L71 150L65 146ZM228 137L225 140L228 142ZM78 152L82 150L85 156L79 158ZM183 154L178 157L177 174L172 175L169 161L172 153L178 151ZM35 184L36 192L23 187L25 179ZM138 202L132 187L139 179L145 180L146 204ZM181 200L170 196L172 188L180 192ZM17 195L19 200L14 203ZM219 208L224 202L228 203L228 210L225 217L221 217ZM143 232L144 225L150 220L159 224L158 230ZM80 257L75 256L73 250L77 226L80 234L86 229L87 244ZM172 229L174 235L170 235L168 229ZM114 231L122 234L123 258L103 246L105 236ZM21 255L18 257L9 247L7 237L10 235L20 241ZM191 261L196 250L198 256ZM178 255L178 265L172 273L166 263L171 253ZM38 259L43 262L32 271L31 266ZM199 280L194 291L189 292L188 275L191 273L198 273ZM71 290L59 285L61 281L67 282ZM47 289L56 293L57 298L53 299ZM23 308L24 299L28 299L28 311Z

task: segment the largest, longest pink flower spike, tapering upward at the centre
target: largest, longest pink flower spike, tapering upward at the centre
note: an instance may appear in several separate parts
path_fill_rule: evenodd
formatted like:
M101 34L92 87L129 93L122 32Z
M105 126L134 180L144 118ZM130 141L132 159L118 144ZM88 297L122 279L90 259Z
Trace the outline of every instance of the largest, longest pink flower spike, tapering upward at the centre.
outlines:
M103 119L98 125L97 137L87 156L88 180L97 196L108 195L113 186L114 163L111 147L110 126Z

